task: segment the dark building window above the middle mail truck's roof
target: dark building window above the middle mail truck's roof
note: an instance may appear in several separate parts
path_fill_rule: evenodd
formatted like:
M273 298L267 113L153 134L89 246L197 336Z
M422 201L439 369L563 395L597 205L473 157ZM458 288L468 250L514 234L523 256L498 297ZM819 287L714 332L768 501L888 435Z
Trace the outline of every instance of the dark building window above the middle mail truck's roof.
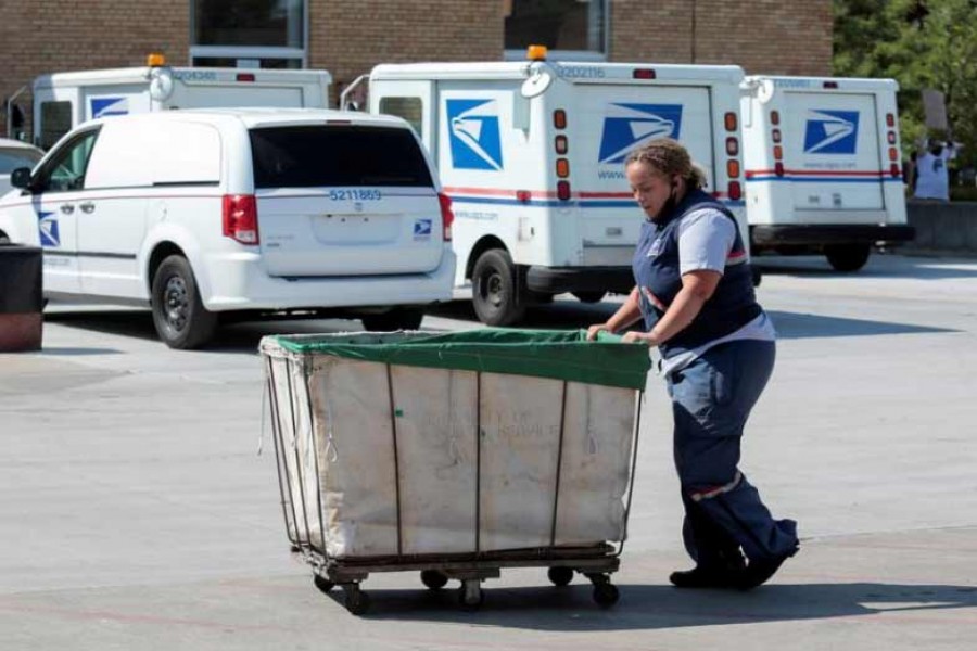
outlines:
M551 59L605 60L609 0L503 0L506 58L523 59L532 44Z

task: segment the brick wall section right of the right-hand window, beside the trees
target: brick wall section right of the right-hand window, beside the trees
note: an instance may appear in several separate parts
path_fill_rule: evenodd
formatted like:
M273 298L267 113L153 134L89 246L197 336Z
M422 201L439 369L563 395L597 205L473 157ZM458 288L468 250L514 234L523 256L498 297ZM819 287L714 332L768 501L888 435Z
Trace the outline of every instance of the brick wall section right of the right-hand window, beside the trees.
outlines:
M829 0L611 0L610 58L827 76L832 26Z

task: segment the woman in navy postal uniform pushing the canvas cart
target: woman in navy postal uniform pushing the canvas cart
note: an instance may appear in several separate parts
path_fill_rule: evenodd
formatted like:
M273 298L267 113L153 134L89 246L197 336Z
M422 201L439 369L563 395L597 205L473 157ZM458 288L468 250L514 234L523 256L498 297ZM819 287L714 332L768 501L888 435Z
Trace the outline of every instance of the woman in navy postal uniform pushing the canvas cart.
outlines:
M702 191L705 176L685 148L651 141L629 155L625 174L646 217L636 286L587 336L644 318L646 331L624 341L661 353L683 539L696 562L669 579L680 588L754 588L798 550L797 523L774 520L737 468L744 425L773 371L774 328L757 303L736 219Z

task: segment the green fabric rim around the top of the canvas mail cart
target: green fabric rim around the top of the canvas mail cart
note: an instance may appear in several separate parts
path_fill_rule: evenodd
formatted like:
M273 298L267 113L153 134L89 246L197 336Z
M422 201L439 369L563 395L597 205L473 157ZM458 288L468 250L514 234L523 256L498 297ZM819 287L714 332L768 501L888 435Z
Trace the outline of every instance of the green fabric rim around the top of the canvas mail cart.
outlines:
M481 329L427 332L277 335L300 355L332 355L390 365L553 378L585 384L645 388L648 347L585 330Z

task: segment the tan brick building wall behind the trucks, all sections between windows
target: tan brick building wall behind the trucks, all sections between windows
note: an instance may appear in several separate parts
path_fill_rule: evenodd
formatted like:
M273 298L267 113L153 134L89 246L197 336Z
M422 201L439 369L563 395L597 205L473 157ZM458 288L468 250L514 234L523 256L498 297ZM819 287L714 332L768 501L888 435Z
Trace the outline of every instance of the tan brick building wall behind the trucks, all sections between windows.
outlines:
M332 73L341 90L382 62L498 61L503 1L307 0L308 65ZM830 0L611 0L609 33L610 61L830 74ZM149 52L186 65L189 48L189 0L5 2L0 100L40 74L142 65Z

